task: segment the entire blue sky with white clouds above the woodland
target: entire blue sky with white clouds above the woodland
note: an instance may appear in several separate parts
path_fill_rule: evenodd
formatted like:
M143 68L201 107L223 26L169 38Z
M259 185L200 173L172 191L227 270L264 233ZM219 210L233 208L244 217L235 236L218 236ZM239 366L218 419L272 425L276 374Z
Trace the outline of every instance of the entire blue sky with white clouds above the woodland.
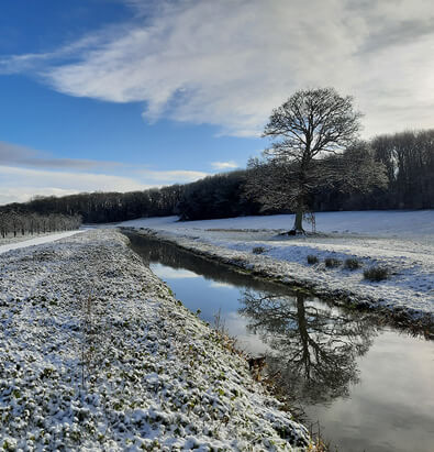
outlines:
M305 87L364 137L433 126L425 0L3 0L0 30L0 203L245 167Z

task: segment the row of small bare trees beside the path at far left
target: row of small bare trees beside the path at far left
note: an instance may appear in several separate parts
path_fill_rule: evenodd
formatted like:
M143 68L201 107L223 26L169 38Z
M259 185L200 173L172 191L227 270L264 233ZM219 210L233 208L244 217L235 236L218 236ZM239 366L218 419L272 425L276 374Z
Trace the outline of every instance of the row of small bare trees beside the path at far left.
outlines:
M43 216L15 211L0 212L0 235L2 239L9 235L33 235L55 231L70 231L78 229L80 224L81 218L78 214L49 213Z

